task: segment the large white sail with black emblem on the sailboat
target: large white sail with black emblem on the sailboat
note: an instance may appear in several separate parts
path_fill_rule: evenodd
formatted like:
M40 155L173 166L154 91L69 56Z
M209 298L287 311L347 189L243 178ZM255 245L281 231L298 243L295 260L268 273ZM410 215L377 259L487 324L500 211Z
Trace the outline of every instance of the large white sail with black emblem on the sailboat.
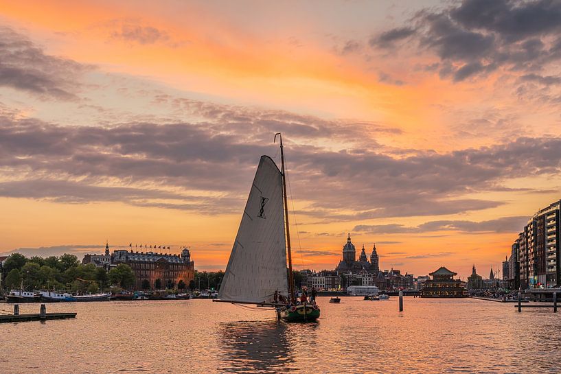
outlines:
M218 299L264 303L288 296L282 174L261 156Z

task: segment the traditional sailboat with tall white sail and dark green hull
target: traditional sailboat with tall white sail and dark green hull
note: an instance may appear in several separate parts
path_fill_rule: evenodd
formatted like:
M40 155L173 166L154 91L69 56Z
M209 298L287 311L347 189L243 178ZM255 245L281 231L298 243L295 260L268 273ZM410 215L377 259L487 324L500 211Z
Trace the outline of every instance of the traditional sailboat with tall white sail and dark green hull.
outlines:
M315 303L297 303L290 253L284 150L281 170L269 156L261 156L249 198L233 243L218 299L214 301L273 307L287 322L319 318ZM287 274L288 259L288 274Z

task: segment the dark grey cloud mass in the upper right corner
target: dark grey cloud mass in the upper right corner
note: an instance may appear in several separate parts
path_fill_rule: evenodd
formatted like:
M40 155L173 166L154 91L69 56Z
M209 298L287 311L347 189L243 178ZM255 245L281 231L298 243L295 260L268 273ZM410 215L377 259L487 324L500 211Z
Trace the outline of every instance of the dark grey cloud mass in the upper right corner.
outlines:
M413 37L440 59L439 73L455 82L496 69L532 74L561 58L561 2L463 0L418 12L413 28L382 32L373 47Z

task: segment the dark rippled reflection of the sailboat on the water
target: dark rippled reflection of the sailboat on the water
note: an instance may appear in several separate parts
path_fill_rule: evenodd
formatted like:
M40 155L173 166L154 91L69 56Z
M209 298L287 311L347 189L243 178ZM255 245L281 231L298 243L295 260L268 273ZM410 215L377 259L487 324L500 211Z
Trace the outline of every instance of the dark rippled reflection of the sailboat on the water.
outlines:
M286 324L277 320L222 323L222 371L282 373L293 362Z

